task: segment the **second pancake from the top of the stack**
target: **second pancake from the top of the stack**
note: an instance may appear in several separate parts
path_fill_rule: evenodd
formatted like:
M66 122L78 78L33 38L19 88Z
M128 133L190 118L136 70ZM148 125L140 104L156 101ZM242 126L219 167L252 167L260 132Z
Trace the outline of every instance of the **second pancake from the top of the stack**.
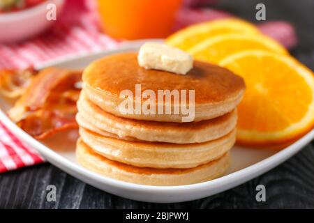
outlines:
M80 126L104 136L107 136L107 132L117 134L121 139L127 140L140 139L174 144L200 143L223 137L237 125L236 110L218 118L192 123L165 123L122 118L104 112L90 102L83 91L77 102L77 108L79 113L76 120Z

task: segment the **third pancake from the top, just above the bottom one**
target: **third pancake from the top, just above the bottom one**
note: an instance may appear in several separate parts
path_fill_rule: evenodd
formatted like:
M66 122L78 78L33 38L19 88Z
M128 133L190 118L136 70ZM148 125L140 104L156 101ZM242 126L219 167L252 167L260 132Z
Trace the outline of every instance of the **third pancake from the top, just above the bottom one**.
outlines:
M147 141L126 141L80 128L80 137L96 153L107 159L136 167L191 168L216 160L230 151L236 130L200 144L167 144Z

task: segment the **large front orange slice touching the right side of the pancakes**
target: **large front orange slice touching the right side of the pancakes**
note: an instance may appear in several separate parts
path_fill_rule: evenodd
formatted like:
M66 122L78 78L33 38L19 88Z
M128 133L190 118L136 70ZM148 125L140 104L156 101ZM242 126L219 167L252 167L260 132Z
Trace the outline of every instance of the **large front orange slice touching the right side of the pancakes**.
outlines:
M281 54L245 51L219 64L246 82L238 107L239 143L282 143L313 129L314 76L301 63Z

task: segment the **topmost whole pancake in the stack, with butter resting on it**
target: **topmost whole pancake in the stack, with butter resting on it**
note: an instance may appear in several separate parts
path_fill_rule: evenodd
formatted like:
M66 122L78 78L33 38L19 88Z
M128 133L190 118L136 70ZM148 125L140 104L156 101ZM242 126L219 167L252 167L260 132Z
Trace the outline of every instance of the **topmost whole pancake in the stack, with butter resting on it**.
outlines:
M182 122L186 114L181 109L179 114L134 114L134 111L126 114L119 109L124 101L124 98L119 98L122 91L132 91L133 106L137 107L144 100L135 101L136 84L141 84L142 91L151 90L156 95L158 90L195 90L195 116L189 121L202 121L231 112L241 101L245 89L244 79L219 66L194 61L194 68L186 75L176 75L141 68L137 63L137 53L133 52L106 56L91 63L84 70L82 78L83 89L89 100L105 112L148 121ZM174 100L170 100L170 105L158 105L157 97L149 100L155 102L156 111L158 107L165 109L165 106L171 107L172 111L181 108L178 103L174 105Z

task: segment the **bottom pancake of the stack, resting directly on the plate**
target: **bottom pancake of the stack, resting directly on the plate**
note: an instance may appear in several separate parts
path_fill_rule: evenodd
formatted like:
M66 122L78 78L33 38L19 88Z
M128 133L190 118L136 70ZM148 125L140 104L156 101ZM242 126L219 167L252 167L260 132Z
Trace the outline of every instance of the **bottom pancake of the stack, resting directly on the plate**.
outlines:
M77 161L83 167L117 180L144 185L187 185L200 183L221 176L229 166L228 153L219 160L191 169L154 169L133 167L108 160L94 153L82 140L77 141Z

